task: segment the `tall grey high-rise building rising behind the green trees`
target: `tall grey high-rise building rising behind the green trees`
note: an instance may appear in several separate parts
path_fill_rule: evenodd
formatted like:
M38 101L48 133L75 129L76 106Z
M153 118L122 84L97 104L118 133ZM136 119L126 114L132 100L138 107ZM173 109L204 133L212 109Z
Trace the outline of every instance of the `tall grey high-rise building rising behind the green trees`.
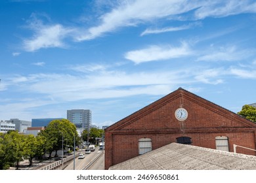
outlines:
M91 110L72 109L67 110L67 119L70 120L77 128L91 128Z

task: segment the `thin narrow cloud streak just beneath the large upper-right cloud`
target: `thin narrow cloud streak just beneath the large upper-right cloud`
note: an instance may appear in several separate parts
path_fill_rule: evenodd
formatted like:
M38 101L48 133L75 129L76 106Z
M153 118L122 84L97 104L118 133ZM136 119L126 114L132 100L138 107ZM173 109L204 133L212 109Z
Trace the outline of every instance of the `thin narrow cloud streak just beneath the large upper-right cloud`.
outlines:
M171 32L171 31L182 31L182 30L190 29L190 28L198 26L198 25L200 25L200 23L195 22L192 24L182 25L179 27L164 27L162 29L146 29L145 31L143 31L140 34L140 36L148 35L148 34L166 33L166 32Z

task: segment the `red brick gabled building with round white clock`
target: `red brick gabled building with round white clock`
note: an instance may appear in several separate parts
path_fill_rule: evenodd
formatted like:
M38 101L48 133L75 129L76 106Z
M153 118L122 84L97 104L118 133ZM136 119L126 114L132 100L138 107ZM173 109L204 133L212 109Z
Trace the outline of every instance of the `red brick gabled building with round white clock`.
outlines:
M105 169L171 142L255 149L256 124L179 88L105 129ZM255 155L240 147L236 152Z

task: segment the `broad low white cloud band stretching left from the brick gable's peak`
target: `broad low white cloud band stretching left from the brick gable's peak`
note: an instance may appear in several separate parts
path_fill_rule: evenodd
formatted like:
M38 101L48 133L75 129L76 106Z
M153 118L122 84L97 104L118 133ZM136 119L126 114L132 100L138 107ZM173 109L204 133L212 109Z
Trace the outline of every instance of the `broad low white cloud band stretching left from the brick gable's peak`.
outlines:
M181 72L182 74L179 74ZM182 75L182 76L181 76ZM184 71L155 73L124 73L96 71L77 75L38 74L16 76L10 80L20 93L37 93L53 101L104 99L131 95L160 95L170 86L189 82Z

